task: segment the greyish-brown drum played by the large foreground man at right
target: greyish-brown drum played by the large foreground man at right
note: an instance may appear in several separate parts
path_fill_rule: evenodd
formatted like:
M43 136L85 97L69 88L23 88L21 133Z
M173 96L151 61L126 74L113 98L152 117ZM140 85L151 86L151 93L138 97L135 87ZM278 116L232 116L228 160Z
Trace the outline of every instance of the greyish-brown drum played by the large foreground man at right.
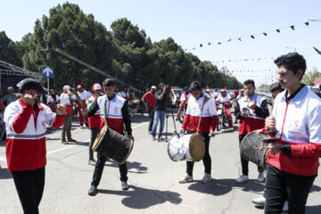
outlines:
M268 149L264 140L269 136L256 131L244 136L240 146L241 156L259 166L260 169L267 169Z

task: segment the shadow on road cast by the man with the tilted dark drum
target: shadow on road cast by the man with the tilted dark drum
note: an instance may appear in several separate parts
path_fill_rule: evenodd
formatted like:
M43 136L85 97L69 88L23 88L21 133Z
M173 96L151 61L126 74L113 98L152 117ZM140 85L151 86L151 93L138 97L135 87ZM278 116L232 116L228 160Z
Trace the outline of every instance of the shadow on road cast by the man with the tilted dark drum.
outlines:
M179 204L182 202L179 193L147 189L135 185L129 185L129 191L98 190L98 193L117 194L126 196L121 202L128 208L146 209L164 202Z

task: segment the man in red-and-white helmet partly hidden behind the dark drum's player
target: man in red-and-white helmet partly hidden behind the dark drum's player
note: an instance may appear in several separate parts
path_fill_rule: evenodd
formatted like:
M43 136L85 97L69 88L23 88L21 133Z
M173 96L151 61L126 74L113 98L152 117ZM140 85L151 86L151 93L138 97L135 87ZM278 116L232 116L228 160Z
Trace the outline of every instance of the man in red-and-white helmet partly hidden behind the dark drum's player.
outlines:
M94 103L97 103L98 97L102 93L102 86L99 83L95 83L93 86L93 91L95 92L94 95L89 97L86 100L86 106L87 109L90 109L90 106ZM100 110L95 112L95 115L92 117L88 117L88 122L89 122L89 128L90 128L90 144L89 144L89 161L88 164L94 165L95 164L95 159L94 159L94 152L92 150L94 141L96 136L99 133L100 125L101 125L101 117L100 117Z

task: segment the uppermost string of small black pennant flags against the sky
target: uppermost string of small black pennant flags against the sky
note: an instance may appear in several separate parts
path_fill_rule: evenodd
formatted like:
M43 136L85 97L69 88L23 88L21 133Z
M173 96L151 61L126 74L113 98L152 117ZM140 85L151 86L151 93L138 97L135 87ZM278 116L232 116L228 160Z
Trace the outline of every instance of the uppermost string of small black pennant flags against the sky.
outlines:
M321 19L319 19L321 20ZM319 21L319 20L312 20L312 21ZM224 43L228 43L228 42L232 42L232 41L239 41L239 42L242 42L243 39L246 39L246 38L251 38L251 39L255 39L256 37L258 36L264 36L264 37L268 37L268 35L272 32L276 32L277 34L281 33L284 31L284 29L292 29L292 30L295 30L297 29L298 26L306 26L308 27L309 26L309 23L311 21L306 21L306 22L303 22L303 23L298 23L298 24L293 24L293 25L290 25L290 26L286 26L284 28L279 28L279 29L276 29L274 31L263 31L263 32L260 32L260 33L257 33L257 34L252 34L250 36L247 36L247 37L235 37L235 38L229 38L227 39L226 41L222 41L222 42L216 42L216 43L212 43L212 42L208 42L207 44L203 44L201 43L199 46L194 46L193 48L191 49L185 49L185 51L193 51L195 49L200 49L204 46L210 46L210 45L222 45Z

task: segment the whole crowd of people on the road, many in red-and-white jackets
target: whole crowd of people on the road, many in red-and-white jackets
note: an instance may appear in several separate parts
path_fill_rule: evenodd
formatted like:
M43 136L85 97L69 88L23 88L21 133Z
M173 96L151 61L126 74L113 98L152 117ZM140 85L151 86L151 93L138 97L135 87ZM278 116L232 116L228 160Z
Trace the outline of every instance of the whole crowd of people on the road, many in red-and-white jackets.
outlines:
M205 143L205 154L202 158L204 176L202 183L209 183L211 177L210 136L213 136L218 124L216 103L224 103L228 126L233 127L231 104L235 103L235 121L240 121L238 138L251 132L265 133L276 138L276 143L268 143L268 169L258 167L259 182L265 182L263 197L252 202L264 205L265 213L304 213L309 190L317 177L319 156L321 156L321 99L309 91L300 82L306 70L306 62L299 53L288 53L276 59L278 82L271 85L269 91L274 99L272 112L268 110L267 100L256 94L255 82L248 79L243 88L235 90L235 99L226 93L220 95L215 91L209 96L198 81L185 87L180 96L179 109L185 109L185 118L180 128L183 134L199 133ZM8 95L2 102L6 105L4 122L6 124L6 155L8 170L12 172L21 205L25 213L38 213L38 205L45 185L45 129L62 127L62 144L76 142L71 137L71 116L73 103L78 104L79 126L89 127L91 139L89 144L89 164L95 165L93 179L88 194L94 196L100 183L105 156L97 153L97 161L91 147L99 130L104 126L127 135L132 141L134 136L128 114L128 103L131 102L128 88L116 94L116 83L111 78L103 80L102 85L92 86L93 94L78 85L76 92L70 86L63 86L62 95L50 92L45 105L40 97L45 94L41 84L27 78L18 84L21 95ZM142 98L150 117L148 133L152 140L163 140L165 116L170 106L170 87L161 83L152 86ZM31 117L33 115L33 117ZM293 117L295 115L295 117ZM157 127L160 122L159 131ZM37 130L35 128L37 126ZM66 138L67 135L67 138ZM41 152L35 149L40 146ZM32 154L32 155L31 155ZM26 158L29 161L25 161ZM242 156L242 175L236 183L249 180L249 161ZM186 161L185 175L179 179L180 184L193 181L193 161ZM126 161L119 164L122 190L128 190L128 167Z

